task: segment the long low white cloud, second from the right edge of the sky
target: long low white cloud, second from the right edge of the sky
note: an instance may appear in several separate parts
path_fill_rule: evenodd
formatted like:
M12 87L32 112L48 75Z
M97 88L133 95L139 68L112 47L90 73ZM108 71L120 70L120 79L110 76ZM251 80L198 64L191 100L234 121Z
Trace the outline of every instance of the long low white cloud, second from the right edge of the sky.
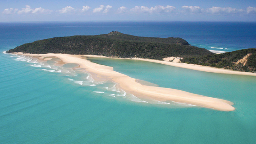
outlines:
M225 14L225 13L240 13L244 12L242 9L236 9L236 8L231 8L231 7L216 7L213 6L209 9L206 10L208 13L212 14Z

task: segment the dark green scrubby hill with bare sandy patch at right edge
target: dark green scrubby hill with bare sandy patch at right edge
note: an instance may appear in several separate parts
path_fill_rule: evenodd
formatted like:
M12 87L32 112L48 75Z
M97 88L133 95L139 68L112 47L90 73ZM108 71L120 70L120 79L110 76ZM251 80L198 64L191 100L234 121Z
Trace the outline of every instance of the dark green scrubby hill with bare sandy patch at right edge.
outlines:
M184 58L181 62L244 72L256 72L256 49Z

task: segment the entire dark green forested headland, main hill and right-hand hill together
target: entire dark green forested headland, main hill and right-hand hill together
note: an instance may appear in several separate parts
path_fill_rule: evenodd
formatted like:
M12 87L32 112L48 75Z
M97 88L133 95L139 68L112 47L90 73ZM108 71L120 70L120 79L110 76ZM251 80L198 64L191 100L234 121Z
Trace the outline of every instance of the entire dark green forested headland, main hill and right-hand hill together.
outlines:
M183 57L181 62L184 63L256 72L256 49L214 54L204 48L191 46L178 37L142 37L117 31L95 36L53 37L23 44L7 52L89 54L156 60L174 56Z

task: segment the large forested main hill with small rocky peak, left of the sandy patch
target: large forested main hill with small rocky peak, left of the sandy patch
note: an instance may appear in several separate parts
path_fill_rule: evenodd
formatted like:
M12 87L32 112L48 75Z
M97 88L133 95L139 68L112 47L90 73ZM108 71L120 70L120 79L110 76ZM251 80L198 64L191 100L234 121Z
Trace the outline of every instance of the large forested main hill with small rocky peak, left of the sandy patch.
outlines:
M8 52L93 54L117 58L195 57L212 52L190 46L182 38L141 37L110 32L96 36L54 37L20 45Z

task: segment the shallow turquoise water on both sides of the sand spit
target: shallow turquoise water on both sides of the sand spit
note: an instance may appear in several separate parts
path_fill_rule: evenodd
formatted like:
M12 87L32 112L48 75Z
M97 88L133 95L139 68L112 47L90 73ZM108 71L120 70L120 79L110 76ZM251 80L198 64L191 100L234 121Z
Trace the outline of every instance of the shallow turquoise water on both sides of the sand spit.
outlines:
M58 67L54 73L50 71L51 62L48 62L51 69L46 64L35 67L11 56L1 54L3 143L253 143L256 140L256 77L200 72L138 60L90 59L161 87L235 103L235 111L223 112L146 103L118 94L112 97L112 91L104 87L113 83L89 85L84 79L89 74L82 70L65 73L65 68L71 71L76 65L64 65L61 72Z

